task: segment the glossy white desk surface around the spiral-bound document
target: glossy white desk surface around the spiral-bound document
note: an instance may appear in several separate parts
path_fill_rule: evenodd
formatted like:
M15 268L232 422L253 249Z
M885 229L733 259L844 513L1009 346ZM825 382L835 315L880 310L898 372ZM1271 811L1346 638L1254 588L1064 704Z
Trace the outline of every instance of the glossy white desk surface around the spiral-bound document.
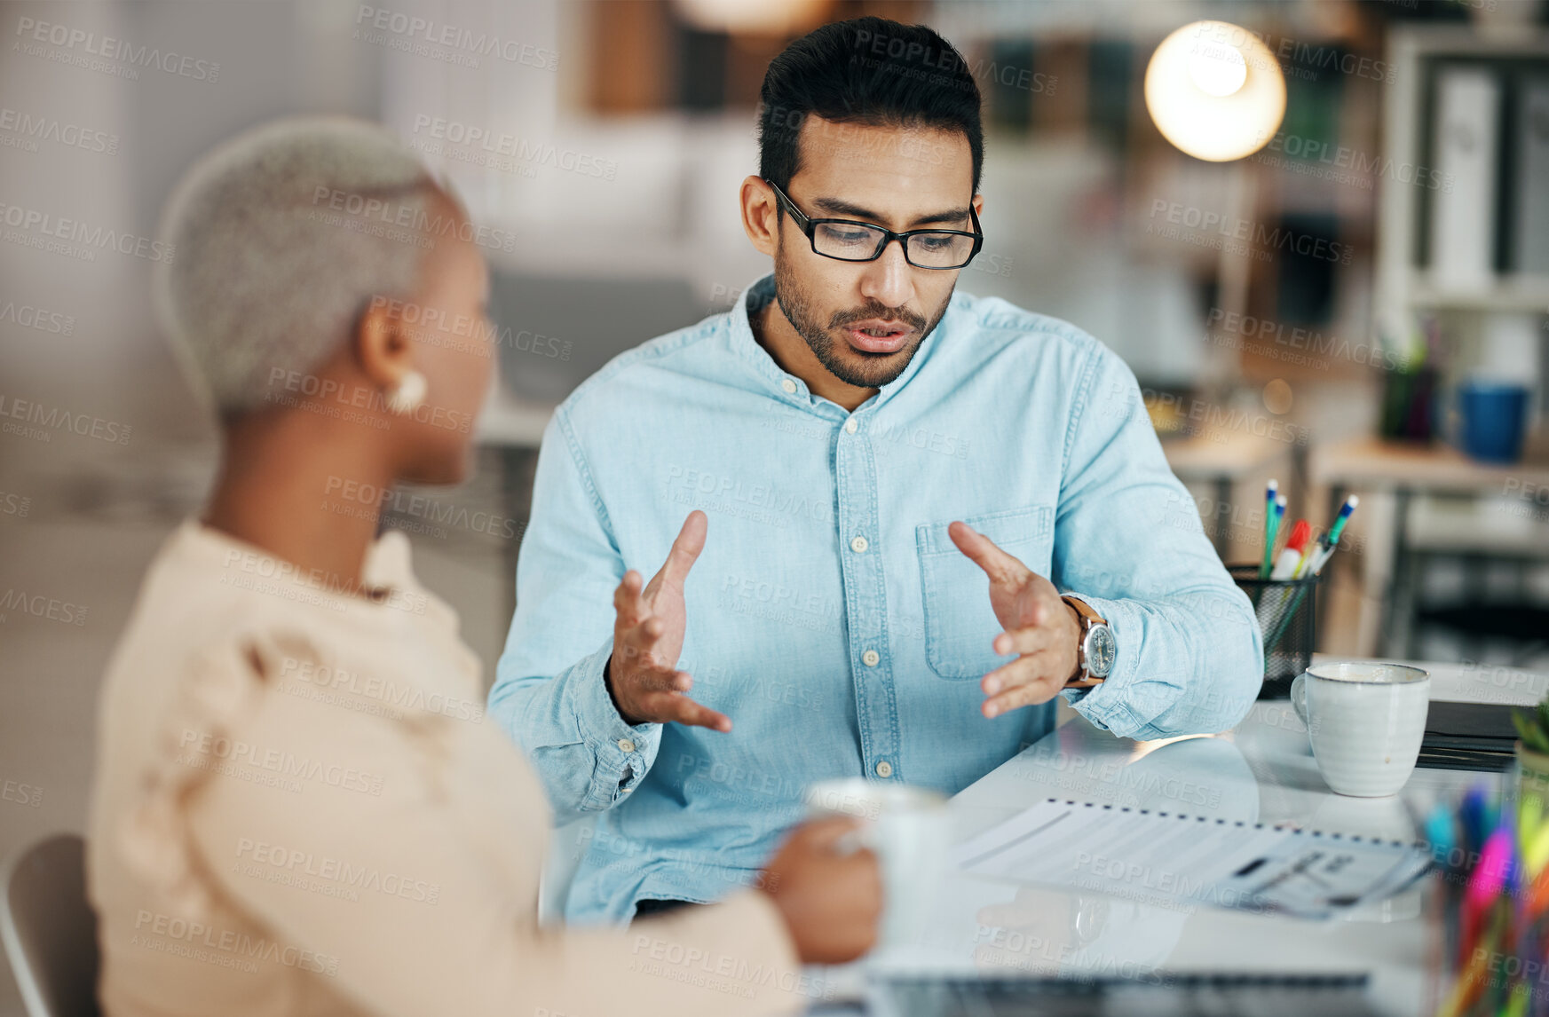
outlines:
M1549 675L1523 670L1420 664L1433 700L1530 704ZM1441 797L1499 774L1416 769L1399 796L1334 794L1318 776L1307 732L1287 701L1256 703L1233 731L1169 741L1115 738L1077 717L974 782L950 811L965 839L1047 797L1290 825L1345 834L1414 841ZM1369 972L1371 998L1391 1014L1436 1009L1441 932L1433 879L1334 921L1303 921L1197 907L1077 895L963 873L937 887L928 943L881 950L872 966L977 971L982 975L1145 977L1152 969ZM1106 904L1097 901L1106 899ZM1081 950L1069 944L1070 915L1086 901L1106 921ZM849 972L847 975L844 972ZM830 969L840 992L860 972Z

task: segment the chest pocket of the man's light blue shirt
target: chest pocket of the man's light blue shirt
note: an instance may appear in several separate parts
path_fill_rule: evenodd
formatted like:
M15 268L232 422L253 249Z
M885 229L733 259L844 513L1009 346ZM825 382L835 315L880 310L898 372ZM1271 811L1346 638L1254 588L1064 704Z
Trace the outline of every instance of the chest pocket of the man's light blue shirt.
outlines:
M1035 573L1047 576L1053 515L1053 508L1038 505L965 517L962 522ZM998 656L991 647L1001 624L990 607L990 577L946 536L951 522L914 528L925 608L925 661L940 678L982 678L1010 658Z

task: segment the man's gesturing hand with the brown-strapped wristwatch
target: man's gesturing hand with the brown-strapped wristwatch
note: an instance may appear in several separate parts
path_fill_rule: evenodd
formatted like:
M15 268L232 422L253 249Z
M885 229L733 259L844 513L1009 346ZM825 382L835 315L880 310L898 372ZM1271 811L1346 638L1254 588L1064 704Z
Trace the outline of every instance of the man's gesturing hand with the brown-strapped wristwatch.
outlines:
M946 534L957 550L990 576L990 607L1005 628L994 638L994 652L1018 653L979 683L988 697L985 717L1055 698L1075 676L1081 622L1055 585L1002 551L990 537L967 523L953 523Z

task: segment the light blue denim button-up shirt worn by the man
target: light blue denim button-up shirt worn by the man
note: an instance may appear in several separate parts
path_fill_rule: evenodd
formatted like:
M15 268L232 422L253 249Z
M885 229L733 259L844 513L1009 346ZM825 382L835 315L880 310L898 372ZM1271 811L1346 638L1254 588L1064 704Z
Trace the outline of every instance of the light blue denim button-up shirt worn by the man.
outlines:
M1259 689L1248 599L1108 347L959 293L849 413L754 341L748 302L771 293L764 277L731 311L618 356L544 433L489 714L561 822L601 813L572 921L754 882L815 780L951 794L1052 729L1053 703L979 712L979 678L1008 658L953 520L1108 619L1111 676L1063 693L1094 724L1224 731ZM649 579L696 508L709 528L678 666L730 734L629 726L603 684L613 588L626 568Z

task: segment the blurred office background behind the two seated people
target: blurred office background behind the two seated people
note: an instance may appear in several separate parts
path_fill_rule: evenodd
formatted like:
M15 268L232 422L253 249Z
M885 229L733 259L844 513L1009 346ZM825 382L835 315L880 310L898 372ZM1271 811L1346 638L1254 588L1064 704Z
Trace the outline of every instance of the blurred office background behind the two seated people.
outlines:
M389 517L488 669L550 407L767 271L736 200L764 68L858 14L926 22L968 57L987 240L959 286L1131 364L1194 495L1151 525L1202 523L1225 560L1256 560L1269 477L1287 525L1321 529L1355 492L1321 650L1549 667L1537 0L6 3L0 780L40 794L0 800L0 854L82 827L107 653L211 480L212 426L149 297L149 238L191 159L287 113L372 118L514 235L489 251L502 370L480 474ZM1199 19L1245 29L1286 80L1244 159L1182 153L1146 110L1152 51ZM60 220L113 237L46 246Z

